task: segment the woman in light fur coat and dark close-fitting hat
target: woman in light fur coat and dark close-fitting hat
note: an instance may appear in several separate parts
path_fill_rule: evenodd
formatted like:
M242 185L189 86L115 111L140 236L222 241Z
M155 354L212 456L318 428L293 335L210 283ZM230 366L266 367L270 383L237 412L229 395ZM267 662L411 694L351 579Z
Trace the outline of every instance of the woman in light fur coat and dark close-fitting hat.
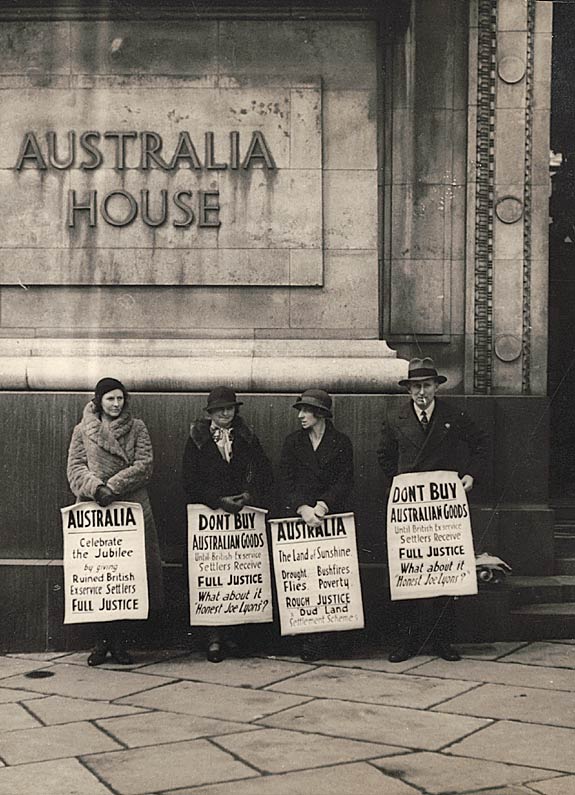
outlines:
M93 399L74 428L68 451L68 482L77 502L114 500L137 502L143 508L146 569L150 610L163 604L162 561L156 525L146 490L152 476L153 453L144 422L128 408L128 392L115 378L102 378ZM98 624L99 639L88 665L101 665L108 653L115 662L131 665L124 621Z

